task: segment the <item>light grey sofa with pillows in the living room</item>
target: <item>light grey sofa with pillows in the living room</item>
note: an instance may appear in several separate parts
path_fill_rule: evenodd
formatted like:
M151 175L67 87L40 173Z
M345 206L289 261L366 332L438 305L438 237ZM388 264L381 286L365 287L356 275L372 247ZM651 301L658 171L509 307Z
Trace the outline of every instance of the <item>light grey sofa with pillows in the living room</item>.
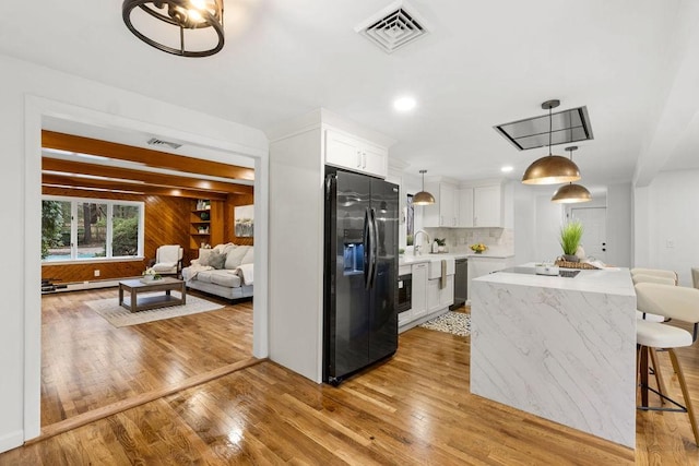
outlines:
M198 289L226 299L252 296L254 249L234 243L201 249L199 259L182 268L188 288Z

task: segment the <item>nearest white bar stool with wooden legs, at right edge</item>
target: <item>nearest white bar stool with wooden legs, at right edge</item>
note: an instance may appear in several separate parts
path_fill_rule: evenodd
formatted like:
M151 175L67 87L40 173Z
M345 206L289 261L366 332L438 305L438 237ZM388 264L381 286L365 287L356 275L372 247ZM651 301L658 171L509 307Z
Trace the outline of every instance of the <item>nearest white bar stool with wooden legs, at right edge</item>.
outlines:
M642 410L667 410L687 413L689 423L695 435L695 443L699 446L699 428L695 417L687 382L682 371L674 348L691 346L697 340L699 327L699 289L656 283L639 283L636 285L637 308L641 312L663 315L665 318L692 323L694 334L665 323L637 320L636 340L639 350L639 375L641 378ZM673 369L677 373L677 381L682 389L685 406L651 389L648 385L648 354L654 348L664 348L670 355ZM648 406L648 392L654 392L662 398L674 404L676 408Z

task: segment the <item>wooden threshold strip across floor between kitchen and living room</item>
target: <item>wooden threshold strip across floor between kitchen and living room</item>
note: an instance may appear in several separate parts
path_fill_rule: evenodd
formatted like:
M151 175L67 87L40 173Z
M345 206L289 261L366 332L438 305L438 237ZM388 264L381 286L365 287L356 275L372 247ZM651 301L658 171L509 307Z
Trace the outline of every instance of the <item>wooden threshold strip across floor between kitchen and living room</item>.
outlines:
M181 392L182 390L191 389L192 386L211 382L214 379L218 379L224 375L228 375L233 372L237 372L242 369L257 366L260 362L263 362L266 360L269 359L268 358L263 358L263 359L249 358L242 361L234 362L232 365L227 365L222 368L214 369L199 375L190 377L189 379L186 379L175 385L170 385L165 389L153 390L151 392L132 396L127 399L121 399L110 405L103 406L100 408L96 408L87 413L83 413L82 415L78 415L75 417L72 417L59 422L55 422L50 426L46 426L42 428L42 434L39 437L27 440L26 442L24 442L24 444L31 445L33 443L37 443L43 440L50 439L51 437L58 435L59 433L68 432L69 430L85 426L90 422L94 422L99 419L104 419L111 415L116 415L117 413L126 411L127 409L135 408L137 406L141 406L146 403L153 402L155 399L162 398L164 396L168 396L174 393Z

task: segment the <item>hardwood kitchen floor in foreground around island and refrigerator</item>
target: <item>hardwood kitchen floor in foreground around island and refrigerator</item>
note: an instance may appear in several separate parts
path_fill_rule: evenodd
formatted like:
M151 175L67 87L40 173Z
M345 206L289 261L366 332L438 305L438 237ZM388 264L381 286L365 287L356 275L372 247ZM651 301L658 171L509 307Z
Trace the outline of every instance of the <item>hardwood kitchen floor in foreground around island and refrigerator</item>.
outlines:
M678 353L699 395L696 350ZM15 449L0 464L699 464L686 415L637 419L635 453L471 395L469 338L413 328L392 359L340 387L264 361Z

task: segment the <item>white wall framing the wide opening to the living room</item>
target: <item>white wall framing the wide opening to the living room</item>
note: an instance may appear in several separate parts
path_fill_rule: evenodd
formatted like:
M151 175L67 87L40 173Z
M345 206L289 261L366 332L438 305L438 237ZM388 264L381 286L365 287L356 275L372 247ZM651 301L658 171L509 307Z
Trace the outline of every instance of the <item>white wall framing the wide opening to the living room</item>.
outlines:
M2 452L38 435L40 426L42 116L152 132L164 139L217 147L222 154L218 162L226 162L226 154L266 158L268 143L261 131L9 57L0 56L0 195L5 200L0 213L14 225L2 229L3 261L12 266L0 270ZM266 163L256 167L264 169ZM262 214L260 223L256 220L256 235L261 231L266 238L266 208L256 213ZM260 262L266 258L266 242L259 248L262 255L258 260L256 253L256 282L266 277L266 263ZM254 307L256 314L266 313L266 297L256 297ZM256 319L256 324L260 323L264 324L264 320ZM262 328L256 327L256 339L258 333L263 333ZM266 348L259 343L256 348L256 356L266 356Z

